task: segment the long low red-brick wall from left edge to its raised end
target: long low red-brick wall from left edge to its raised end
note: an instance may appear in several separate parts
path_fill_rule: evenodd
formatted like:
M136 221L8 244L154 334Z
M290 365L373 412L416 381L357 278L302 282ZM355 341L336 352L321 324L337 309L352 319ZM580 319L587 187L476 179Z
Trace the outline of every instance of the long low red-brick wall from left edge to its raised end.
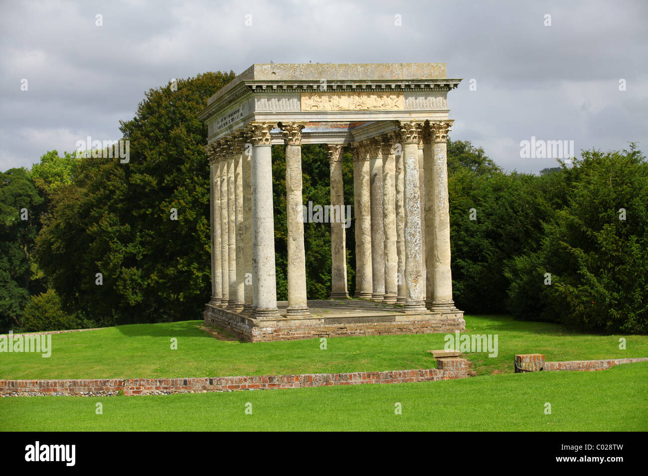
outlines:
M138 378L102 380L0 380L0 396L110 396L299 389L364 383L404 383L466 378L468 361L438 359L437 368L340 374L263 375L247 377Z

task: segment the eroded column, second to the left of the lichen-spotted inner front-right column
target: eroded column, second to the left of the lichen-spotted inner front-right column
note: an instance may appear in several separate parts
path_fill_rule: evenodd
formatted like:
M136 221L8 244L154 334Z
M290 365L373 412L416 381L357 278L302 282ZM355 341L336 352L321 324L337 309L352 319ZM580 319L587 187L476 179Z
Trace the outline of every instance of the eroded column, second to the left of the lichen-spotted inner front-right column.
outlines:
M394 135L383 135L382 152L382 220L385 229L385 299L394 304L398 295L398 254L396 249L396 156Z

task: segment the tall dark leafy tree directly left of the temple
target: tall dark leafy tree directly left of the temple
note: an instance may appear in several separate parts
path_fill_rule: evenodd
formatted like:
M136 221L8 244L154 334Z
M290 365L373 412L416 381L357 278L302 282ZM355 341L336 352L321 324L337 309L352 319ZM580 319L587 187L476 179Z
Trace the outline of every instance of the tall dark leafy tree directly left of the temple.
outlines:
M210 288L209 167L196 115L233 78L205 73L177 91L151 89L121 122L128 163L81 159L71 184L52 193L38 258L64 306L102 325L200 315Z

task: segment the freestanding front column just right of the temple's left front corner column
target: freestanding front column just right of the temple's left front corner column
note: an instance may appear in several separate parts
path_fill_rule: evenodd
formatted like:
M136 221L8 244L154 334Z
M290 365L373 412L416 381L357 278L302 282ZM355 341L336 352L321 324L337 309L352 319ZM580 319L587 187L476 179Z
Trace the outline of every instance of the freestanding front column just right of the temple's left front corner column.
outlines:
M288 230L288 308L286 317L310 315L306 297L306 253L301 194L301 130L305 122L279 124L286 144L286 228Z

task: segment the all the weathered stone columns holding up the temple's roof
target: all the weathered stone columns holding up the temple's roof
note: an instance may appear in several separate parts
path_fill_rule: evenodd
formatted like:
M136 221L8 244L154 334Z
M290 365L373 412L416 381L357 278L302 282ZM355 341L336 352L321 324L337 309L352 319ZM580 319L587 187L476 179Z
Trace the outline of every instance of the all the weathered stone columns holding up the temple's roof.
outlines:
M451 120L399 122L394 133L353 144L356 297L401 302L406 313L454 309L446 176L451 124ZM286 315L307 316L301 180L305 122L253 122L207 146L210 302L257 319L279 316L270 136L277 126L286 144ZM341 145L329 145L333 210L344 209L342 150ZM342 220L331 223L331 255L331 297L348 297Z

